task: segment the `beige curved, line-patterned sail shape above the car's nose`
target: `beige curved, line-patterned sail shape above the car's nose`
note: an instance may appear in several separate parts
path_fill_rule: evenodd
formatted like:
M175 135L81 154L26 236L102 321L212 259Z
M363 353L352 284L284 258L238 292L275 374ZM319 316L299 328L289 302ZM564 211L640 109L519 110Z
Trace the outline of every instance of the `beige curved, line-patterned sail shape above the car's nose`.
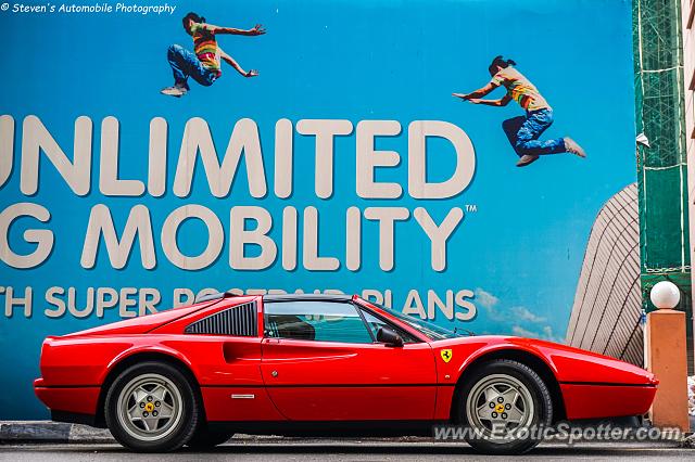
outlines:
M612 196L596 217L566 342L643 365L641 317L640 213L633 183Z

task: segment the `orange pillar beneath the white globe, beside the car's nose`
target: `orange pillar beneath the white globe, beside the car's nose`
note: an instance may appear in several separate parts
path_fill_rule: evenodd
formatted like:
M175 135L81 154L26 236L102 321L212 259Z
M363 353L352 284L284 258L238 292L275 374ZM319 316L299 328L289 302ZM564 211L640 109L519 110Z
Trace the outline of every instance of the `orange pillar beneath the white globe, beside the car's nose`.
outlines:
M647 315L646 367L659 380L649 418L657 427L690 431L685 313L658 309Z

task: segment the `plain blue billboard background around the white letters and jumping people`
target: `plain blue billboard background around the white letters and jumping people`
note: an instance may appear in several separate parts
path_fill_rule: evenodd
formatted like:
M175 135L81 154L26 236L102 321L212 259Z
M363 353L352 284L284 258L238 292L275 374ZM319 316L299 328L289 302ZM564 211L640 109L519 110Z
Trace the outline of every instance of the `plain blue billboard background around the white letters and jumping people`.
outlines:
M12 7L14 3L10 3ZM35 4L35 3L25 3ZM42 4L42 3L36 3ZM78 3L79 4L79 3ZM115 5L115 3L114 3ZM157 309L173 304L175 288L197 292L226 290L340 290L362 293L391 291L391 305L417 305L416 291L427 310L428 291L445 299L446 291L469 291L471 319L447 319L433 311L433 321L482 333L518 334L560 341L577 286L589 232L596 213L612 194L635 180L633 80L630 2L605 1L233 1L172 3L173 14L137 13L0 13L9 43L0 50L2 90L0 114L14 120L12 169L0 189L0 210L16 203L39 204L50 211L47 223L25 217L9 227L13 253L30 254L28 229L49 229L54 235L50 255L40 265L17 269L0 249L0 419L46 418L33 396L42 338L118 319L117 309L103 318L91 312L78 318L65 312L46 316L49 287L75 287L76 306L87 306L88 287L153 287L161 293ZM261 37L223 36L219 44L244 68L260 76L244 79L229 66L211 87L191 82L180 99L160 94L172 85L166 52L172 43L192 50L181 17L195 11L207 22L250 28L263 24ZM599 13L599 14L598 14ZM546 137L571 134L587 153L541 158L520 169L518 157L502 130L502 121L523 114L505 107L472 105L452 98L490 80L488 65L495 55L514 59L541 90L555 112ZM492 98L501 98L497 89ZM40 119L68 157L73 155L75 121L93 124L91 188L75 194L45 156L38 191L21 192L23 120ZM150 121L167 123L167 181L162 196L105 196L99 189L102 120L119 123L119 175L147 184ZM258 126L268 192L253 197L241 163L231 191L211 194L204 170L195 168L187 197L173 193L173 179L187 120L203 118L222 158L233 126L251 118ZM381 137L379 150L395 151L395 167L378 168L377 181L403 185L399 198L366 200L355 192L355 130L336 137L333 192L315 193L314 137L293 136L294 181L287 198L274 193L274 143L277 120L397 120L401 134ZM460 194L444 200L418 200L408 194L408 131L413 120L444 120L470 138L476 154L472 181ZM5 133L7 136L7 133ZM2 140L0 140L2 141ZM25 140L26 141L26 140ZM7 144L7 143L5 143ZM9 156L2 157L5 170ZM428 141L427 176L445 180L455 156L442 140ZM156 267L141 264L139 245L127 264L114 269L100 243L93 268L80 265L90 211L109 207L121 233L131 208L148 207L154 235ZM190 271L172 265L163 254L160 232L176 208L198 204L213 210L224 227L219 258ZM278 257L263 270L232 270L230 208L258 206L269 213L268 235ZM300 214L299 256L294 270L285 270L280 248L282 209ZM334 256L338 270L312 271L302 265L302 213L319 214L319 255ZM379 267L379 224L362 219L362 261L356 271L345 266L345 213L349 207L405 207L406 220L394 228L394 266ZM439 223L453 207L465 213L446 244L446 268L430 265L430 242L413 217L425 207ZM200 221L188 220L178 231L181 253L200 254L207 244ZM258 249L249 246L249 255ZM8 288L23 297L30 287L29 316L24 306L10 306ZM410 293L412 294L412 293ZM468 292L467 292L468 294ZM67 295L61 296L67 299ZM137 296L135 296L137 298ZM17 301L21 303L21 301ZM136 308L131 308L137 311ZM456 307L462 310L460 306ZM471 315L470 309L467 312ZM429 315L429 313L428 313ZM430 317L431 318L431 317Z

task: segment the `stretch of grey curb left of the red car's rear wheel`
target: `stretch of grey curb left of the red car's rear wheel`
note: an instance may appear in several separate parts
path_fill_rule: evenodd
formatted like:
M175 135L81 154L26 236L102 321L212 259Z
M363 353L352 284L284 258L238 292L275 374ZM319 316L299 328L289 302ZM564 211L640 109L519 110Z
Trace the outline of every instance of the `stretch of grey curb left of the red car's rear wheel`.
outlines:
M0 445L23 442L110 444L116 442L105 428L51 421L0 422Z

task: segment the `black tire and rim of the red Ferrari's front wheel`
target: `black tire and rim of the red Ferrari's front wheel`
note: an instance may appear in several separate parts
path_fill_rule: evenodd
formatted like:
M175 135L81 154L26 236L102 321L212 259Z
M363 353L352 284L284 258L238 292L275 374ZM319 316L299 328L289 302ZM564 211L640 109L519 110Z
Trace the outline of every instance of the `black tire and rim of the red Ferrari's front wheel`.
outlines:
M547 386L533 369L518 361L496 359L477 367L469 373L464 372L464 374L465 382L458 390L455 415L460 424L468 427L466 428L466 441L468 441L473 449L486 454L521 454L530 451L541 442L539 431L549 426L553 421L553 399ZM504 397L502 398L502 402L497 401L500 399L500 397L497 397L486 403L488 395L485 394L483 397L480 395L480 392L484 389L486 384L495 383L498 384L497 387L501 387L498 389L504 390L504 381L516 382L522 394L514 398L515 403L513 405L504 401ZM490 386L488 386L488 388ZM517 388L513 389L516 390ZM528 390L528 394L526 394L525 389ZM475 396L471 395L471 393L475 394ZM478 401L476 401L476 396L479 397ZM521 398L522 396L525 396L525 398ZM519 399L521 399L521 403L519 403ZM497 418L497 415L502 414L493 414L495 411L495 409L492 408L493 402L495 407L497 403L501 403L505 408L509 405L518 409L518 407L522 407L521 405L527 406L525 405L527 400L532 402L532 410L529 409L529 406L519 412L523 418L516 428L514 428L516 432L510 432L508 434L509 438L507 439L494 438L492 433L488 435L482 428L482 426L485 426L484 422L481 421L479 416L470 414L472 412L471 408L482 409L482 405L485 405L491 408L490 415ZM469 406L469 402L471 406ZM486 414L486 409L478 412ZM506 412L505 415L507 415ZM492 424L492 419L488 422ZM500 421L497 421L497 423L500 423ZM504 421L502 424L514 426L514 424Z

